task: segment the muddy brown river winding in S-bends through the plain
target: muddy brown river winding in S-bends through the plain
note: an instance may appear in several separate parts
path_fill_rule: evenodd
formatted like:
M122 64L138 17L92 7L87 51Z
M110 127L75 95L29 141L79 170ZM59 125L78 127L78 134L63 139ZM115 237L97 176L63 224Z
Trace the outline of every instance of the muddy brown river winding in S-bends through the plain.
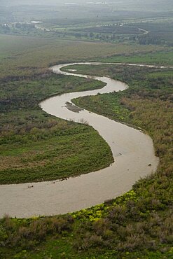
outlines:
M77 63L92 64L92 63ZM93 63L95 64L95 63ZM71 75L60 69L69 64L53 66L55 73ZM97 63L99 65L99 63ZM50 97L40 107L47 113L76 122L87 122L95 128L111 147L115 162L105 169L83 174L64 181L46 181L0 186L0 216L13 217L50 216L100 204L118 197L132 188L139 179L155 172L158 158L154 155L153 141L146 134L132 127L117 123L86 110L74 112L67 109L71 99L97 93L123 91L125 83L107 77L74 74L102 80L106 86L100 90L72 92ZM151 166L148 166L151 164Z

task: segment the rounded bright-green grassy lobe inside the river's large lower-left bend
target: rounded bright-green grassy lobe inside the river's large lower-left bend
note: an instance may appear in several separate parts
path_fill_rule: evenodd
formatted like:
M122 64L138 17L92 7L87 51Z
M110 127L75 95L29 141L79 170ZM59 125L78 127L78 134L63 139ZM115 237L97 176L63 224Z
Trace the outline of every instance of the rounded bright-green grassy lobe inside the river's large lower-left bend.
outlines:
M39 112L22 113L25 120L18 117L21 113L17 114L13 118L18 119L18 125L25 120L27 123L19 133L12 128L1 136L1 183L63 179L107 167L113 162L109 146L91 127L46 120ZM8 120L11 116L8 114ZM29 123L29 119L32 122Z

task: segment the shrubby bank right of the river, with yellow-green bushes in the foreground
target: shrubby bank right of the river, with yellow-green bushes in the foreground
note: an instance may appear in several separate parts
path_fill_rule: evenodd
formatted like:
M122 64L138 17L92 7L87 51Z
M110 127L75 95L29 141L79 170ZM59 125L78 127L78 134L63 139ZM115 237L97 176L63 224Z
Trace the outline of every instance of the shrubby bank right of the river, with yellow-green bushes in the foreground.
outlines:
M122 93L97 94L77 102L146 130L160 158L158 170L125 195L68 216L4 217L1 257L172 258L172 70L107 65L95 66L95 71L93 66L81 66L81 71L84 68L130 85Z

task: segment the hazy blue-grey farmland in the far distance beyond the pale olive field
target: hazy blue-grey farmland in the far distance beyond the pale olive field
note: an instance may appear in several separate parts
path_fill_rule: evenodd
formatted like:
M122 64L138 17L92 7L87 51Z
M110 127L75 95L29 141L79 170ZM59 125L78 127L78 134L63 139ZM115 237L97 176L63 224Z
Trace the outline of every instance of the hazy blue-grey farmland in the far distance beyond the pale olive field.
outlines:
M0 33L43 38L172 46L172 3L1 4ZM142 8L142 12L141 10ZM39 21L39 23L32 23Z

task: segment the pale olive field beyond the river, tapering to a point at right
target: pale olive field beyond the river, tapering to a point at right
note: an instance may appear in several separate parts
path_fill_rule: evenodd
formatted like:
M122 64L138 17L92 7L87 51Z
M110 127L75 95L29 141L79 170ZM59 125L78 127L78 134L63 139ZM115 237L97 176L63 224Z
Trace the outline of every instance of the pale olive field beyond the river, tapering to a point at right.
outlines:
M0 78L33 76L52 64L94 60L112 55L134 55L163 50L162 46L63 41L0 34Z

